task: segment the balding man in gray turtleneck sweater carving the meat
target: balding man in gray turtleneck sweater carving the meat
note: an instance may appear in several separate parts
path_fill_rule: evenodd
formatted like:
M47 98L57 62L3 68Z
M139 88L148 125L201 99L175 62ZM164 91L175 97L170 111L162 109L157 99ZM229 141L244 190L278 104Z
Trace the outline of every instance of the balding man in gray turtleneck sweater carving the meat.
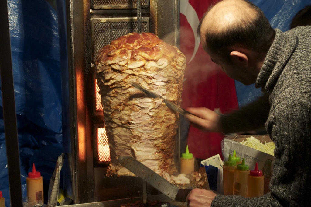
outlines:
M223 0L204 15L198 32L212 61L231 78L262 88L269 104L254 107L255 111L247 106L243 110L252 117L244 119L241 114L245 113L239 111L219 115L207 108L188 108L196 116L188 114L186 118L204 130L216 132L251 130L265 123L276 148L271 192L250 199L193 189L188 195L188 206L309 205L311 26L283 33L273 30L263 12L252 3ZM236 117L238 121L232 126Z

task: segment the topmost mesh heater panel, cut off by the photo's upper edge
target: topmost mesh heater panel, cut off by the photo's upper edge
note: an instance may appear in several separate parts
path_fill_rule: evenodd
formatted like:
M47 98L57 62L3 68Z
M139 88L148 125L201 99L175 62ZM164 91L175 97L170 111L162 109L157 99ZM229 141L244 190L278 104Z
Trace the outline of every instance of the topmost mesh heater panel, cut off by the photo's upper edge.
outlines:
M109 8L136 8L137 0L93 0L93 9L109 9ZM149 0L141 0L141 7L148 7Z

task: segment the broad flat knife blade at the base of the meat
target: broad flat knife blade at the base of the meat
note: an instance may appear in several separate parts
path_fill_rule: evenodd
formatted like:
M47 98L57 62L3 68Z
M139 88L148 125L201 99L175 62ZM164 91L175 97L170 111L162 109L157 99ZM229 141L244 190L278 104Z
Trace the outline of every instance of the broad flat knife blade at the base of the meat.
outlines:
M174 201L186 201L192 189L179 189L156 172L130 156L119 156L118 162Z

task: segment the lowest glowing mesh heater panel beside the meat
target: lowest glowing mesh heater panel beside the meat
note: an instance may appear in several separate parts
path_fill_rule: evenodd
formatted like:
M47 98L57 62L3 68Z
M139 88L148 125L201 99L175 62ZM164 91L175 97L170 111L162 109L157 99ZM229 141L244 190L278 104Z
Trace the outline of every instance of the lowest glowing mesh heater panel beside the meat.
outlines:
M110 162L110 149L106 128L97 128L97 152L98 163Z

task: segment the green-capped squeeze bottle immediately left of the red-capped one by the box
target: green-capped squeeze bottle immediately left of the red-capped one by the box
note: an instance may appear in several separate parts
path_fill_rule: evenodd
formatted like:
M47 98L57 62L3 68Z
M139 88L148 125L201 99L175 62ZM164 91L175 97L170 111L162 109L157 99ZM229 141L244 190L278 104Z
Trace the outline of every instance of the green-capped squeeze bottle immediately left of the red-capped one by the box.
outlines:
M247 176L249 174L249 166L245 165L245 159L236 166L234 170L233 195L241 195L247 197Z

